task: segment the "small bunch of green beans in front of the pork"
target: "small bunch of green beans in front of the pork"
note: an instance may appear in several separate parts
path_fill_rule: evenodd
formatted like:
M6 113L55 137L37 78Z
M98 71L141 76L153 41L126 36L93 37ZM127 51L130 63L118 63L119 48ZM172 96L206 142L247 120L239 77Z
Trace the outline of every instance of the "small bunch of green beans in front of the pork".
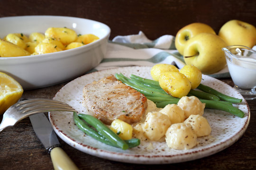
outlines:
M94 139L114 147L119 147L122 150L136 147L140 144L140 140L133 138L130 140L122 140L109 127L104 125L101 120L87 114L78 114L73 112L73 119L76 126L82 130L86 135ZM94 128L91 128L94 127Z

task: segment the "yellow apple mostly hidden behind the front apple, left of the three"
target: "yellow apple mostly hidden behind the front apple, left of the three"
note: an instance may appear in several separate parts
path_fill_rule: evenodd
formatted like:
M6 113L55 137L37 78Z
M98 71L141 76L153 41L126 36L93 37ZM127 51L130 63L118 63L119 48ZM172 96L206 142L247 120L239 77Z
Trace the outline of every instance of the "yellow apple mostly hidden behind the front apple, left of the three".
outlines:
M186 42L189 39L191 39L193 36L200 33L216 34L215 31L210 26L203 23L189 24L187 26L184 26L177 32L176 38L175 38L175 47L181 55L183 55L183 50Z

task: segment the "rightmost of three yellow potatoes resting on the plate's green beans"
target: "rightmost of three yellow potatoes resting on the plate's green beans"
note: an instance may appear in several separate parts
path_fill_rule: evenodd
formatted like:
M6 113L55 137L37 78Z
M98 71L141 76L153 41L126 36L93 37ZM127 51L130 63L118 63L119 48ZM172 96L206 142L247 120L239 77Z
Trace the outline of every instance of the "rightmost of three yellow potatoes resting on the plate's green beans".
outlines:
M202 73L200 69L193 65L185 65L181 68L180 73L185 75L191 82L191 89L195 89L200 85L202 79Z

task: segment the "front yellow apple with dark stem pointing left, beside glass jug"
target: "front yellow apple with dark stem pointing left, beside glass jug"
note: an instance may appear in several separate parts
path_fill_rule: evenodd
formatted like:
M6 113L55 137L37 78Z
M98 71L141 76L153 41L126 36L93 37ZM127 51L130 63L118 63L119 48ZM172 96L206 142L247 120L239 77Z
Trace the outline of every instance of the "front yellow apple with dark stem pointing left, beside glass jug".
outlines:
M218 72L226 66L222 51L227 43L218 35L201 33L192 37L184 47L184 60L187 65L194 65L203 74Z

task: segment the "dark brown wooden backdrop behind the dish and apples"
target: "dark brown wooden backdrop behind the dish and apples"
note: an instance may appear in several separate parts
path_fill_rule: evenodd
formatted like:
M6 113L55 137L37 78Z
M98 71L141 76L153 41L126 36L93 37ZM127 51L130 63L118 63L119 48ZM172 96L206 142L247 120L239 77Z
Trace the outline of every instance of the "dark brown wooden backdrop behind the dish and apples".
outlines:
M117 35L143 31L149 39L175 35L190 23L210 25L216 33L231 19L256 23L255 0L0 0L0 17L60 15L100 21Z

